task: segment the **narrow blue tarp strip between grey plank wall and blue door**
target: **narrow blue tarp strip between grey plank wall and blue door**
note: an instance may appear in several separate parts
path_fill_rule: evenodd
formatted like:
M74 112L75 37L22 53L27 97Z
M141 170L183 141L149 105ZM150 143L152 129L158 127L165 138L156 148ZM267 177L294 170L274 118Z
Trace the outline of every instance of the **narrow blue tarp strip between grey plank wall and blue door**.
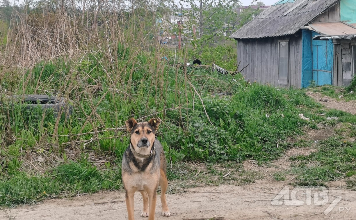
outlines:
M302 88L313 79L312 32L302 30Z

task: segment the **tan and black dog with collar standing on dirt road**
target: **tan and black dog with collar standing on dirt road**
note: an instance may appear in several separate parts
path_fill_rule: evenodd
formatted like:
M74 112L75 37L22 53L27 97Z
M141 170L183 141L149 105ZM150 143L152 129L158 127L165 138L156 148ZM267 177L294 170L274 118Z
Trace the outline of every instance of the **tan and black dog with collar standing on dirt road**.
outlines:
M157 188L161 185L162 215L171 216L166 201L167 162L162 144L156 139L156 131L161 121L151 119L137 122L134 118L125 121L130 132L130 146L122 157L122 182L125 189L126 208L129 220L134 220L133 194L142 194L143 211L141 217L155 219Z

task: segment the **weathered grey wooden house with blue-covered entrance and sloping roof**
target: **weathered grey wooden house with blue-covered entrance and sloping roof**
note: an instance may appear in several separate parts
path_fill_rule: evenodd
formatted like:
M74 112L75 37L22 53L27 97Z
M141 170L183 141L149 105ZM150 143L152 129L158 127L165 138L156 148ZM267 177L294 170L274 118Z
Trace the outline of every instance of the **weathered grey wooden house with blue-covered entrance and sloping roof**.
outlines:
M348 85L356 73L356 0L280 0L241 27L246 80L280 87Z

